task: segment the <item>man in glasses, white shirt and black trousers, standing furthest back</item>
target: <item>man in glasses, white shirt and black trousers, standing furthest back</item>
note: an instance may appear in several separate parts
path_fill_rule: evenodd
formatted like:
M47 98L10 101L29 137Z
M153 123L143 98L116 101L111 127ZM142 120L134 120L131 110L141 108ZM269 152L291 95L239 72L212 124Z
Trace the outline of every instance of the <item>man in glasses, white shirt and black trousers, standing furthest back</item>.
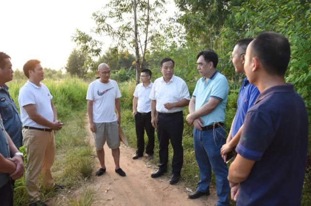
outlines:
M154 149L154 127L151 125L151 100L149 94L152 88L151 71L143 69L140 73L140 81L134 91L133 98L133 116L135 117L135 128L137 137L136 154L132 157L134 160L144 156L145 150L145 130L148 136L146 153L148 159L153 158Z

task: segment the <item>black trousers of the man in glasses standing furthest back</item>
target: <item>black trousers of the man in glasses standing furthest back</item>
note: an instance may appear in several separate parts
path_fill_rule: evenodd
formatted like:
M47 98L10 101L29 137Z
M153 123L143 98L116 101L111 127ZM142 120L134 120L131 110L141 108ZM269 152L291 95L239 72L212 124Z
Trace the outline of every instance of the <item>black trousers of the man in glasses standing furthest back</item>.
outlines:
M148 136L148 143L146 146L146 153L148 155L153 154L154 149L154 128L151 124L151 112L139 113L135 115L135 127L137 137L137 150L136 154L143 155L145 150L145 130Z

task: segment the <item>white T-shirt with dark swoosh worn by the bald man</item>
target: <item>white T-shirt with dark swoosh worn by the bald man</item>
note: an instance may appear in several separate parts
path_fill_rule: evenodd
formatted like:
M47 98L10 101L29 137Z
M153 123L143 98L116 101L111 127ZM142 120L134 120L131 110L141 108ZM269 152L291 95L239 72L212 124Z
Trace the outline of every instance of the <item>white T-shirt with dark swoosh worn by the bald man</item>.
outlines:
M93 121L116 121L115 99L120 97L121 93L115 80L109 79L107 84L101 83L99 79L92 82L87 89L86 99L93 101Z

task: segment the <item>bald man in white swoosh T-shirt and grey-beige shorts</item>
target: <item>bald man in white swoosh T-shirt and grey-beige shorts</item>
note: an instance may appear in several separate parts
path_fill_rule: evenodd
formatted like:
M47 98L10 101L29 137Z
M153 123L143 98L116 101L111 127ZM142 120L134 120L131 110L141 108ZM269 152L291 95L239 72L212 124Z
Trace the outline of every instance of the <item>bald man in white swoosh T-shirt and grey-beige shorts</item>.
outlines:
M101 176L106 172L104 144L107 141L107 145L111 148L114 157L115 172L124 177L126 174L119 165L120 140L118 127L121 124L119 100L121 93L115 80L110 79L110 74L111 71L107 64L101 63L98 65L97 75L100 78L92 82L87 89L87 114L101 166L96 172L96 176Z

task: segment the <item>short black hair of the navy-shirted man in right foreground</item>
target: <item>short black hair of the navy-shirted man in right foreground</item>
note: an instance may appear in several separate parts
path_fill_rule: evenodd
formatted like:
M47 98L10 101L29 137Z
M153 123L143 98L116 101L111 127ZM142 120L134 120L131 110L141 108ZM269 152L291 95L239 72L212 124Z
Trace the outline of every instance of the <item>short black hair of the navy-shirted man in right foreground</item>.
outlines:
M262 32L253 40L251 48L267 73L284 76L291 58L287 38L273 31Z

